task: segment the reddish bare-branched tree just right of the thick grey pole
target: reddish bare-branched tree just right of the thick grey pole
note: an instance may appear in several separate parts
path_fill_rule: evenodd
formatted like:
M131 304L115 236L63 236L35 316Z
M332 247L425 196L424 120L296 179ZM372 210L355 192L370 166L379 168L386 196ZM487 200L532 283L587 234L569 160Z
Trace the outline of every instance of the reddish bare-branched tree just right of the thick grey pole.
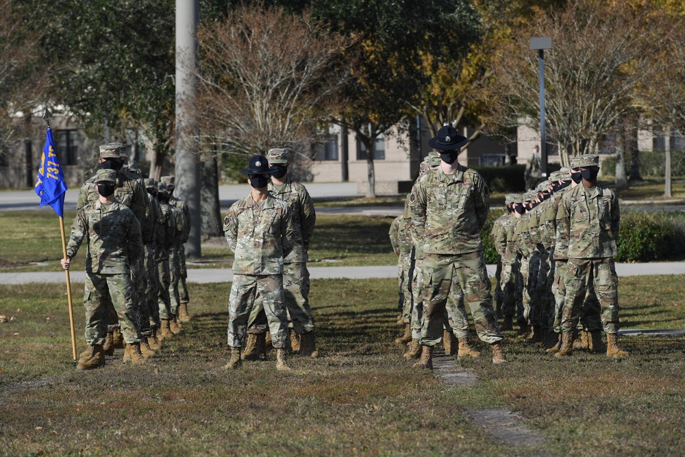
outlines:
M245 4L199 30L201 143L222 153L300 149L339 101L346 41L305 12Z

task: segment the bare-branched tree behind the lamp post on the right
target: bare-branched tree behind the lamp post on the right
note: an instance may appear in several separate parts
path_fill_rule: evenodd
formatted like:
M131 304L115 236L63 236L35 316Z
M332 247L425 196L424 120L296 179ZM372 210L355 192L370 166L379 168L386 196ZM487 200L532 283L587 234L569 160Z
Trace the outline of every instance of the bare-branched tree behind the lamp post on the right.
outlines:
M562 164L569 156L597 151L623 117L634 112L636 91L651 81L651 53L663 45L650 16L620 2L573 0L540 11L503 43L495 60L490 121L501 127L539 119L538 58L532 36L551 36L545 51L545 111Z

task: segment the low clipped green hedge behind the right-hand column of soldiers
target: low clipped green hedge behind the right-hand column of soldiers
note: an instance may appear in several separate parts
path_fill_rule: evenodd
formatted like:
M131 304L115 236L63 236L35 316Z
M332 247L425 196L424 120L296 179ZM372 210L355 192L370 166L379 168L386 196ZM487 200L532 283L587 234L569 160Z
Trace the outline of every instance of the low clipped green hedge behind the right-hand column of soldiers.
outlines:
M490 232L503 210L491 210L481 236L487 264L497 263ZM685 214L682 212L625 211L621 214L616 262L685 260Z

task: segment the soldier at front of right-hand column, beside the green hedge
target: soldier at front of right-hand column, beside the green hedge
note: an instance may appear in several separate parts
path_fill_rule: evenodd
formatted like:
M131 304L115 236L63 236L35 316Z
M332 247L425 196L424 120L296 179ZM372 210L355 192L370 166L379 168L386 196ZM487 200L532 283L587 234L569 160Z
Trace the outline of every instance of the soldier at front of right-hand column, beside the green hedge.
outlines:
M562 311L562 344L554 355L564 357L573 353L573 331L586 304L586 295L592 294L601 306L601 321L607 334L606 355L625 356L628 353L617 341L619 280L614 267L621 219L619 200L612 190L597 182L599 156L582 156L575 166L580 169L582 185L564 195L557 212L559 238L568 243L569 262ZM599 330L590 335L594 347L603 344Z

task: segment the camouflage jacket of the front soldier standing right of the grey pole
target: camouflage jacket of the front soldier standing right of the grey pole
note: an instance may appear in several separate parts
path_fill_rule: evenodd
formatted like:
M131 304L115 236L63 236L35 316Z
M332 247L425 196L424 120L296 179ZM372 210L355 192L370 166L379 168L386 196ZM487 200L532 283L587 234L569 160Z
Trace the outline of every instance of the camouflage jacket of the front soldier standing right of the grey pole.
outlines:
M252 195L233 203L223 220L223 231L236 253L234 274L277 275L283 273L284 261L303 256L288 204L271 195L262 203Z

